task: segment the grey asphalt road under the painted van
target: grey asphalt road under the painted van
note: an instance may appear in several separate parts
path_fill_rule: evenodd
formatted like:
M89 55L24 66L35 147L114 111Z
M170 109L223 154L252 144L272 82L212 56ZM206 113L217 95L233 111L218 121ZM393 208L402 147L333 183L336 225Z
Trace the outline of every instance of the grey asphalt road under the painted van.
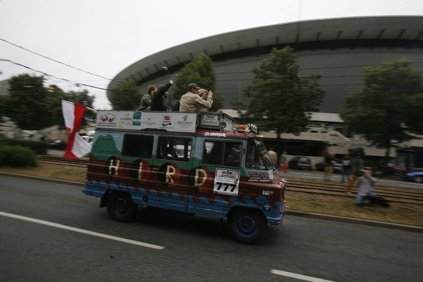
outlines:
M423 277L423 233L285 216L258 245L214 218L114 222L82 187L0 175L1 281L384 281ZM293 278L296 277L296 278Z

